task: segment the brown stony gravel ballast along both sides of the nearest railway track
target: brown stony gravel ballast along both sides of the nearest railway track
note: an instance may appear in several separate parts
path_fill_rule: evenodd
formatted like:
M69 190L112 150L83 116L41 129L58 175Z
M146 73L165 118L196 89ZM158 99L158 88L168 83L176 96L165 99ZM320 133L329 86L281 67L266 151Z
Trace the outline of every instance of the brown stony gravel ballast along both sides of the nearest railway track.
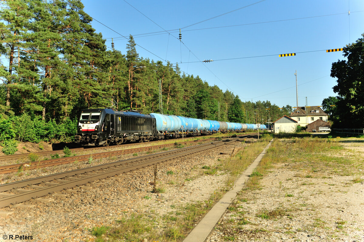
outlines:
M236 144L237 147L246 145ZM215 175L204 175L201 167L214 166L218 159L228 157L220 152L229 153L233 148L234 145L227 145L159 164L158 186L165 189L161 194L151 193L154 167L146 167L5 207L0 209L0 235L31 235L32 241L94 241L92 227L112 226L117 219L131 213L153 212L162 216L175 206L204 201L225 186L228 174L220 171ZM127 155L123 159L130 157L135 156ZM110 161L114 160L94 160L92 165ZM12 182L89 165L66 164L46 171L27 171L20 176L13 174L8 178L5 174L1 179L2 183Z

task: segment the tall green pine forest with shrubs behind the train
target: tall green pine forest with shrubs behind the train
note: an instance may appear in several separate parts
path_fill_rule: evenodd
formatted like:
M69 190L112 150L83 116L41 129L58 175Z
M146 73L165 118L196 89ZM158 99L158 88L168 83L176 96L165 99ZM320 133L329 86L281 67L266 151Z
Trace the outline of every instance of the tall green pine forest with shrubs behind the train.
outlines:
M117 110L158 112L158 80L165 114L256 123L292 111L268 101L241 102L199 76L182 74L178 64L140 57L131 35L126 55L107 50L80 0L2 4L0 113L8 116L0 118L0 142L71 142L82 109L115 104L104 96L118 100Z

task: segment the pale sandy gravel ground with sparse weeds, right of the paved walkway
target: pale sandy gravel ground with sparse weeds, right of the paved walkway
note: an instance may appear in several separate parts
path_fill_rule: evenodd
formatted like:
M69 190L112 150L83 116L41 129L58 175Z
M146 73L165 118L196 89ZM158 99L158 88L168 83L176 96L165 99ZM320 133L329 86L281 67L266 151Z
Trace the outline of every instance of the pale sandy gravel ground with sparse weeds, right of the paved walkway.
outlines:
M336 157L363 162L363 140L341 142L354 152L336 152ZM320 171L312 177L294 165L269 169L260 180L262 189L237 197L207 241L364 241L364 172Z

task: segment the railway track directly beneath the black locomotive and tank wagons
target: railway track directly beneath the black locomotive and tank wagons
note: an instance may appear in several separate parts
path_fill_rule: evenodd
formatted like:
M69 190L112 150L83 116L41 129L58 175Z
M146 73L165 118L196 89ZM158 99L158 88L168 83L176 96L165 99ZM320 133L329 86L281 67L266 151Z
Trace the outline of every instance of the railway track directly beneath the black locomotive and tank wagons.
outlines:
M225 137L221 137L223 139L229 138L230 136L225 136ZM203 140L216 140L217 138L207 138L207 139L203 139ZM178 139L176 139L178 140ZM201 141L201 140L200 140ZM149 143L153 143L153 142L159 142L158 141L151 141ZM135 145L135 144L139 144L139 143L130 143L130 144L122 144L121 146L100 146L100 147L82 147L82 148L72 148L70 149L71 152L79 152L79 151L85 151L85 150L100 150L100 149L105 149L105 148L116 148L116 147L120 147L123 148L125 146L131 146L131 145ZM40 151L40 152L33 152L32 154L36 154L39 155L40 157L42 156L47 156L47 155L55 155L55 154L59 154L62 153L63 150L52 150L52 151ZM23 159L23 158L28 158L29 154L31 153L27 153L27 154L18 154L18 155L0 155L0 162L4 161L4 160L17 160L17 159Z

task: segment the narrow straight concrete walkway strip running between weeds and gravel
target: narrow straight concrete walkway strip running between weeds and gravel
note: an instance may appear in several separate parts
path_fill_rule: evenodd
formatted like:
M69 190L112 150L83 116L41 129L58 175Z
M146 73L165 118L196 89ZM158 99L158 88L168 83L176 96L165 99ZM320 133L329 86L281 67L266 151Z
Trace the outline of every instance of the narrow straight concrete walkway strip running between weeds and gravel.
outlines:
M258 155L252 164L244 171L240 178L235 183L232 190L228 191L215 206L203 217L199 224L187 235L183 242L203 242L206 240L207 236L214 229L216 223L225 213L227 207L236 197L237 193L244 187L244 183L249 179L249 175L252 174L253 170L258 166L259 162L265 155L266 150L272 144L273 139L270 140L269 144L264 148L264 150Z

